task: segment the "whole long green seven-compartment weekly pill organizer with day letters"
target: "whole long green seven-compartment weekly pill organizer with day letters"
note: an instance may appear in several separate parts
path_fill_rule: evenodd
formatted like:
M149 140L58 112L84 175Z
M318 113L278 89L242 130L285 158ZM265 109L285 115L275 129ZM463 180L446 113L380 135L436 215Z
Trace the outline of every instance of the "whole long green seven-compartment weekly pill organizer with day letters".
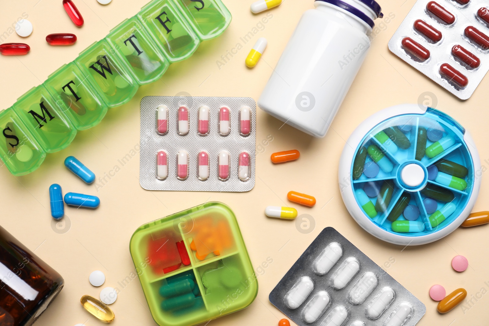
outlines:
M127 103L140 85L189 58L201 41L222 34L231 14L221 0L153 0L103 40L0 111L0 154L14 175L36 170L46 153L61 151ZM3 137L3 138L1 138Z

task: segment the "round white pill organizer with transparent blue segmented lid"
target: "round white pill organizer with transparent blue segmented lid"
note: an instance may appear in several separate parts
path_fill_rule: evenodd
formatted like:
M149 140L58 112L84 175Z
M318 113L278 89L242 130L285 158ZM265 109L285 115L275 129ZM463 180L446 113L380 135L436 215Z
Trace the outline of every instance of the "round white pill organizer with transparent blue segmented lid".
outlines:
M374 177L363 173L371 161L380 167ZM338 177L345 206L361 227L387 242L419 245L445 237L467 218L479 194L477 171L479 153L467 130L439 110L404 104L375 113L354 130ZM380 188L377 196L372 182ZM408 205L420 211L415 220L403 216Z

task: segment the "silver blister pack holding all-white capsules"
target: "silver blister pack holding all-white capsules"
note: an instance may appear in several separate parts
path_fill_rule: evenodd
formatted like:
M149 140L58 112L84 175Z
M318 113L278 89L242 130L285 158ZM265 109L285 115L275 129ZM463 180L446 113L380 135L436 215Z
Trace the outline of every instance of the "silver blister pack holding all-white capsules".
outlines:
M299 326L413 326L426 306L332 227L269 295Z

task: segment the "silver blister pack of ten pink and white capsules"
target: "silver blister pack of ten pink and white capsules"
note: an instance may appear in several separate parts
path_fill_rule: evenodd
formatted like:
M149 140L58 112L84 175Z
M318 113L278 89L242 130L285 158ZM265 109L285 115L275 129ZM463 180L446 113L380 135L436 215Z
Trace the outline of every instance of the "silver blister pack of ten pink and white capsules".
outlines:
M249 191L255 130L249 97L145 96L139 183L147 190Z

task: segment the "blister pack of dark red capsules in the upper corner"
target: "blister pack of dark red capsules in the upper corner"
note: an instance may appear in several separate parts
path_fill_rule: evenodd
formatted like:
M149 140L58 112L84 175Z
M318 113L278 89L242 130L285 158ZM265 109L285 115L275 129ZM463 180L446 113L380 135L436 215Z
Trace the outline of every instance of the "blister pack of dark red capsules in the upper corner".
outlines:
M488 7L485 0L418 0L389 49L467 100L489 70Z

